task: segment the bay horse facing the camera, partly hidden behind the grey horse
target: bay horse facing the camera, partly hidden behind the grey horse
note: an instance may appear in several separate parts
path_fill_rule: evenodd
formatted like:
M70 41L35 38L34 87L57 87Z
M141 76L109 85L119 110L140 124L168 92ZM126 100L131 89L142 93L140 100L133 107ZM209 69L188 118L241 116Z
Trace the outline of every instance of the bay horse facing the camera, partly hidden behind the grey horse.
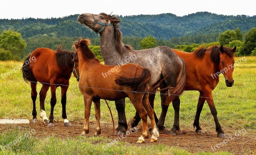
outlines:
M198 48L193 53L183 52L176 49L172 50L184 59L186 63L187 78L185 91L196 90L200 92L195 121L193 124L194 127L196 127L196 133L204 133L199 126L199 117L206 100L215 121L218 137L226 137L217 118L217 110L213 102L212 91L219 83L219 75L221 73L224 75L227 87L231 87L234 84L232 75L234 71L234 52L236 51L236 47L231 49L223 46L212 46L209 48ZM149 102L152 106L154 106L154 98L155 94L149 94ZM180 98L173 100L172 105L174 107L175 115L171 134L176 135L176 130L180 130ZM165 117L161 116L159 121L165 119ZM156 117L155 119L157 121ZM139 115L136 114L134 121L136 125L138 124L138 121L140 121L140 118ZM163 127L164 124L162 123L160 126Z

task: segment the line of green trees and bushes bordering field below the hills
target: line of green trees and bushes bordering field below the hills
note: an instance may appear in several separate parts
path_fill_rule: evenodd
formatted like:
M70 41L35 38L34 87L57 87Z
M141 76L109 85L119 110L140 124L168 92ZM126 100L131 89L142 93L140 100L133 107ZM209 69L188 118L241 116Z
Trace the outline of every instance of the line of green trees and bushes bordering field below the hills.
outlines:
M236 30L226 30L218 35L217 41L195 43L196 39L203 41L203 38L207 38L208 35L197 36L182 36L174 37L169 41L163 39L157 39L153 36L142 37L124 37L124 44L131 45L134 49L147 49L154 48L156 46L168 46L170 48L178 49L185 52L193 52L198 47L209 47L212 45L224 45L229 48L236 46L236 56L243 55L255 55L256 56L256 27L249 30L244 35L237 27ZM210 36L209 36L210 37ZM0 34L0 60L21 60L26 55L39 47L56 49L58 45L62 44L63 49L72 50L73 42L77 40L77 37L56 37L44 35L36 35L31 38L23 39L21 34L13 30L5 30ZM176 41L176 42L175 42ZM100 54L100 40L99 38L92 39L92 45L90 49L96 54L96 56L103 61Z

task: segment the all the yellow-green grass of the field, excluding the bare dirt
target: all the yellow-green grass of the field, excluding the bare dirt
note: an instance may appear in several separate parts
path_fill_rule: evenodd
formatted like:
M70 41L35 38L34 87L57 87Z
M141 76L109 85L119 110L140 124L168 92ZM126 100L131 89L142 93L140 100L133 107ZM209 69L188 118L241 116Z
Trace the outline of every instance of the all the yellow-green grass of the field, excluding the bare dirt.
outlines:
M236 57L236 61L242 57ZM32 119L32 100L30 97L30 85L25 83L20 73L22 62L6 61L0 62L0 118L1 119ZM17 70L17 66L19 70ZM7 76L9 75L9 76ZM233 72L235 83L233 87L226 87L223 75L220 75L220 82L213 91L213 100L218 111L219 122L225 132L226 129L233 133L245 129L255 135L256 129L256 57L246 57L246 62L235 64ZM41 84L37 85L37 91L41 89ZM193 122L196 113L196 104L199 92L187 91L180 97L180 128L194 131ZM45 110L49 117L50 114L51 92L47 93L45 100ZM115 103L109 101L113 117L117 122L117 112ZM39 96L36 101L37 118L40 118ZM92 105L93 106L93 105ZM157 94L155 99L155 111L158 116L161 114L160 96ZM126 99L126 118L127 122L132 120L135 109L129 99ZM67 94L67 115L69 121L83 121L84 103L83 96L78 89L78 82L72 75ZM60 88L57 89L57 104L54 108L54 119L62 121ZM172 128L174 111L169 107L165 126ZM40 120L41 121L41 120ZM95 122L94 107L92 107L90 121ZM108 108L101 101L101 122L111 123ZM204 104L200 116L200 126L204 131L214 131L215 123L207 103ZM46 127L47 128L47 127ZM101 126L102 130L104 126ZM157 145L133 145L125 142L118 142L107 149L103 145L109 143L112 139L108 137L66 137L60 138L54 135L46 137L37 137L32 135L24 137L30 129L26 128L2 128L0 134L0 145L5 146L17 137L21 140L18 145L13 145L11 149L3 149L1 154L228 154L228 152L189 152L186 149L172 147L163 144ZM82 128L81 128L82 132ZM91 131L94 132L94 131ZM135 142L134 142L135 143ZM246 152L242 152L246 153ZM255 153L255 152L254 152Z

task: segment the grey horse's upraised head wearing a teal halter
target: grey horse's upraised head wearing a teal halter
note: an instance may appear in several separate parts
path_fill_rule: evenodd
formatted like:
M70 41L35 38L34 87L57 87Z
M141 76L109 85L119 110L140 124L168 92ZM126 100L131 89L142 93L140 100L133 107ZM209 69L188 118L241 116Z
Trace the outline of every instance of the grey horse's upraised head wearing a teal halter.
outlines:
M77 21L90 27L96 34L100 33L107 26L116 25L121 21L115 15L100 13L99 15L91 13L82 13L77 17Z

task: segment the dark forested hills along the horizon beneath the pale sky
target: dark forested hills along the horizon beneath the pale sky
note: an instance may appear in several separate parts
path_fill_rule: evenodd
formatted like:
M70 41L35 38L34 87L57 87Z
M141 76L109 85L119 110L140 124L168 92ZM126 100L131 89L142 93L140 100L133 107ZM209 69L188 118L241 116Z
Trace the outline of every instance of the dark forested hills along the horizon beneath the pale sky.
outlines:
M38 34L56 37L87 37L98 35L91 32L87 26L77 22L76 15L64 18L26 18L0 19L0 33L5 29L13 29L22 34L23 38ZM119 16L121 31L124 36L147 37L152 35L157 39L169 40L183 35L222 33L227 29L247 31L256 27L256 16L225 16L209 12L197 12L182 17L166 13L159 15Z

